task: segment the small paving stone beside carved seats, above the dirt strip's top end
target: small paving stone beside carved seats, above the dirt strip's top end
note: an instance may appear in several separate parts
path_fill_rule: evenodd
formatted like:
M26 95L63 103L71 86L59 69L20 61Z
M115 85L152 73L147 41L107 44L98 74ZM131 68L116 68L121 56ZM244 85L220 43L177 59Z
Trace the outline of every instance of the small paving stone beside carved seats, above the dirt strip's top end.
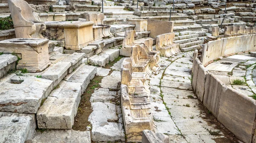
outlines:
M121 78L114 76L105 76L102 82L99 84L102 88L108 88L112 90L119 90Z

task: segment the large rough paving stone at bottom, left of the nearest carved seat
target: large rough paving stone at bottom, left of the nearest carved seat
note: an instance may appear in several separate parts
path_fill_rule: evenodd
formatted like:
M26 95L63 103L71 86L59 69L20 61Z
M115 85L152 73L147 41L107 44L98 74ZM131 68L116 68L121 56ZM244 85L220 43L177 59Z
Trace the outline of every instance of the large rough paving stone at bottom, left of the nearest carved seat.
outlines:
M88 121L92 124L91 137L95 142L125 141L122 123L116 123L116 105L111 103L91 103L93 112Z

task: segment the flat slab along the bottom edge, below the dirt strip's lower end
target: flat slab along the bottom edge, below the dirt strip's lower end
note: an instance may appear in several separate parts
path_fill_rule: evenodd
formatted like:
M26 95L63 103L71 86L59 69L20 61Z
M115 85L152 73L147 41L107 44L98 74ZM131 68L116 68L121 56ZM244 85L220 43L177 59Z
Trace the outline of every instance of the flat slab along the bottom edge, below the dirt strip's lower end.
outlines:
M50 129L36 132L32 143L91 143L90 131L73 129Z

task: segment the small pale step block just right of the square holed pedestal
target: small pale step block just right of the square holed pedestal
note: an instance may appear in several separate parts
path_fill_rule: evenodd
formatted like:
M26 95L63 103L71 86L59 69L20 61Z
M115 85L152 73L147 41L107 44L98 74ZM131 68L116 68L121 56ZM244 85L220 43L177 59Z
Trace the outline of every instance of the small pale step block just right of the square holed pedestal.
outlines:
M61 60L61 62L70 62L71 66L68 68L67 73L72 73L76 67L78 67L82 63L82 59L84 57L84 53L73 53L67 58Z

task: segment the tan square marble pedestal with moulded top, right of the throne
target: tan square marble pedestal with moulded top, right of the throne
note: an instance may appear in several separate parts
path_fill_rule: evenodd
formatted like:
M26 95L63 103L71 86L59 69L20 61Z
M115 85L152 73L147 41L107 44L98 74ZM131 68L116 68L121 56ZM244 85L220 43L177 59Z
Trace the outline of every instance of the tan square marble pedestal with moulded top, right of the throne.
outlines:
M93 42L93 22L70 22L63 25L65 48L81 50Z

